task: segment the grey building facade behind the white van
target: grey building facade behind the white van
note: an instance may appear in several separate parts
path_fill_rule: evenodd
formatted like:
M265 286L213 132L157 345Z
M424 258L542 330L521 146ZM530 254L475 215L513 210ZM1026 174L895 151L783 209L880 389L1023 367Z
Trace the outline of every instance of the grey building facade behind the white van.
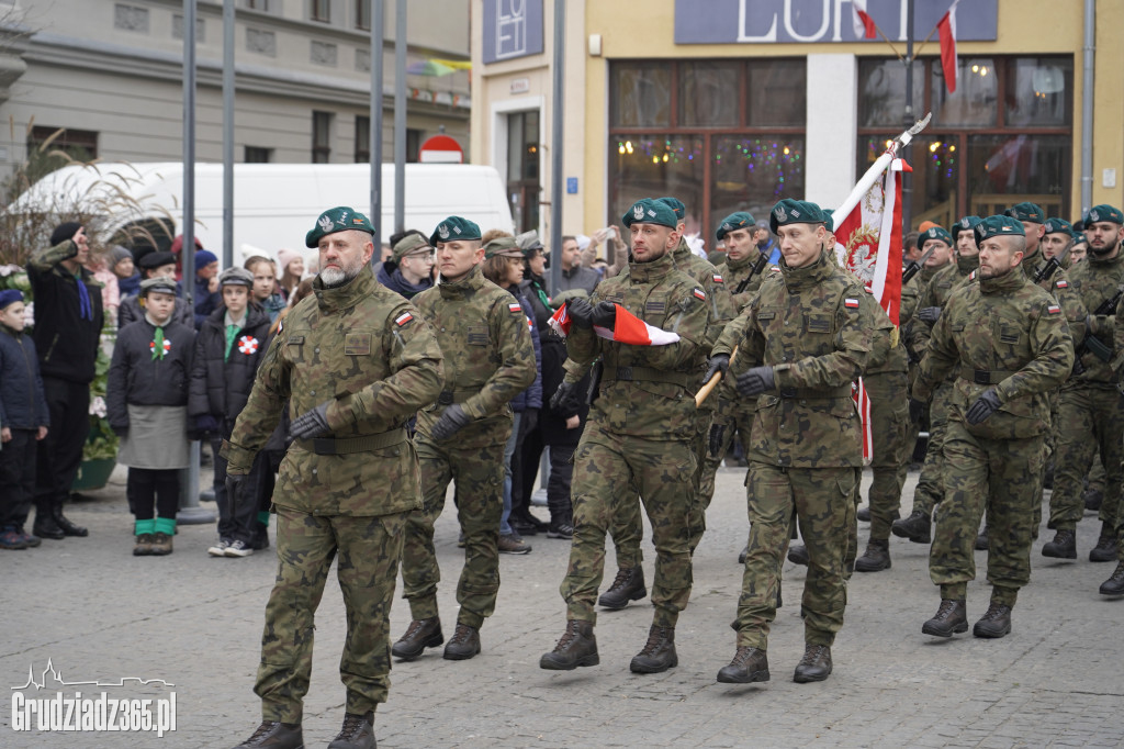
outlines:
M393 157L393 2L383 49L383 157ZM52 145L106 161L182 157L182 0L0 2L0 175ZM235 161L370 159L370 0L237 0ZM469 8L410 0L407 154L438 132L469 146ZM197 3L199 161L221 161L223 2ZM446 74L435 75L437 72Z

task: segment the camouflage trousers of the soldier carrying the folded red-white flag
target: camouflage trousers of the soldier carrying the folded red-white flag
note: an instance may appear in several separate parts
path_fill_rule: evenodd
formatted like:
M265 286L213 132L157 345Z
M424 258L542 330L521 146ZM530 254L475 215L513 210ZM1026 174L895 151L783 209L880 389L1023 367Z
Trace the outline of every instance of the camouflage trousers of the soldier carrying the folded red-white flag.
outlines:
M674 626L691 594L690 515L697 463L690 443L623 436L589 422L573 460L573 544L559 592L566 619L597 621L605 535L638 491L652 524L654 623Z

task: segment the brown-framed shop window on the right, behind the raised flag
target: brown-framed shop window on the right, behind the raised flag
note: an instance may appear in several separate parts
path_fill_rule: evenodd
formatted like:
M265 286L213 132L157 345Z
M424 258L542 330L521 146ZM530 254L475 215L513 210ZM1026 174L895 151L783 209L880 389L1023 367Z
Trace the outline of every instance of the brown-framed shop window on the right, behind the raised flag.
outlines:
M1068 217L1072 173L1071 57L961 57L955 93L939 58L914 65L915 110L933 112L914 141L912 223L949 226L1024 200ZM859 63L859 171L903 129L904 65ZM919 81L918 81L919 78ZM919 83L919 84L918 84Z

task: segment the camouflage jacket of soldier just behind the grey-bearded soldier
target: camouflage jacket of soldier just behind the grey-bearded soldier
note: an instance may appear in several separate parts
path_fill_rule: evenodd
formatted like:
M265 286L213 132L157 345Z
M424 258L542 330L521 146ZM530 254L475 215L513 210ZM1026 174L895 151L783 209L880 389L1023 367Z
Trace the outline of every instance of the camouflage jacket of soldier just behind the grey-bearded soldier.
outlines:
M477 265L459 281L426 289L414 304L445 353L441 397L418 414L418 433L429 437L445 408L457 403L473 418L453 436L459 448L507 442L513 421L508 404L535 381L536 372L519 300L486 279Z

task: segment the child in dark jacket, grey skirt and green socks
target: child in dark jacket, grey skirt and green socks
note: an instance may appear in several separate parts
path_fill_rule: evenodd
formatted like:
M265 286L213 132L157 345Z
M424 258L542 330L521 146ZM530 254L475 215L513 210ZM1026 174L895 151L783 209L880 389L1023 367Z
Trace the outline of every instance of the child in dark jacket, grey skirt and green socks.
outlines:
M196 332L172 318L175 280L140 283L144 317L117 336L106 410L121 439L117 460L129 467L126 494L136 517L135 557L172 553L188 451L188 377Z

